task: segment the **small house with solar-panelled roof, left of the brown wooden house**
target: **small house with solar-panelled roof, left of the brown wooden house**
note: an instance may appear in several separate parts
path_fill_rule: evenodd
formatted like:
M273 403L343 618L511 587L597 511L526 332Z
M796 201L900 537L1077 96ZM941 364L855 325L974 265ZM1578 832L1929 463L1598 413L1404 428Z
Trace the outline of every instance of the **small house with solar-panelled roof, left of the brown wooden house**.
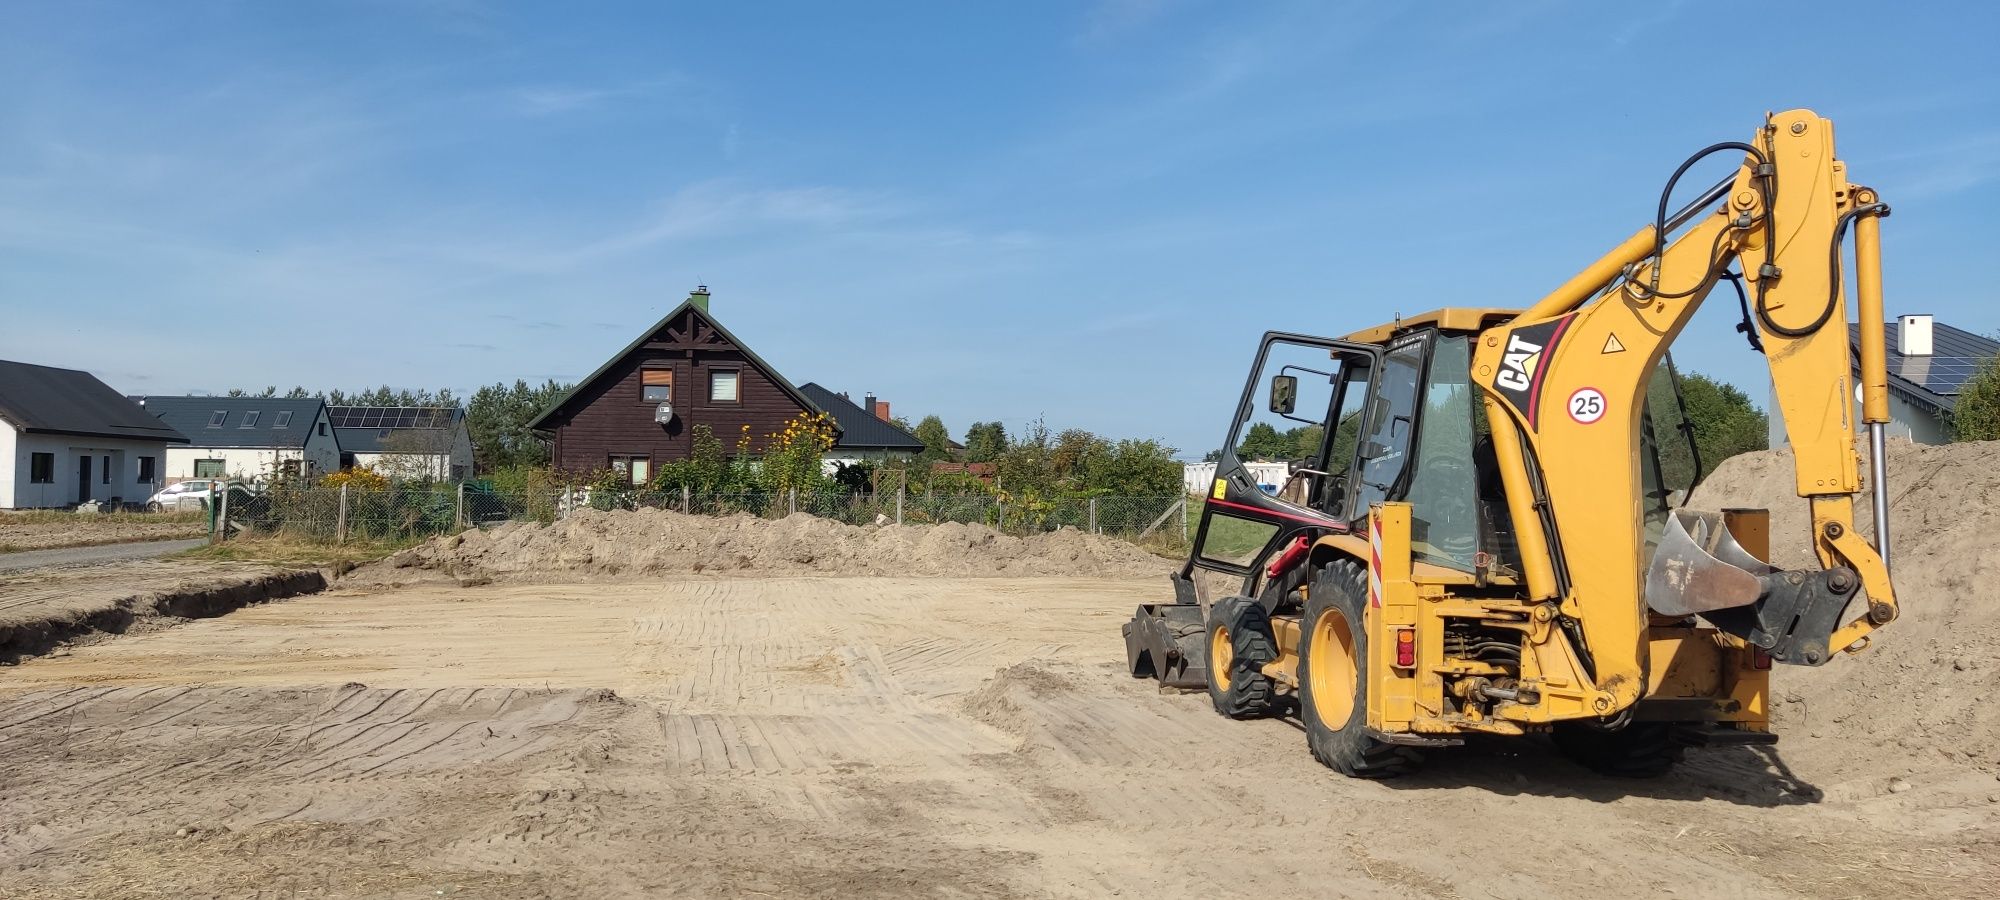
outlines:
M472 434L458 406L328 406L340 468L388 478L472 476Z

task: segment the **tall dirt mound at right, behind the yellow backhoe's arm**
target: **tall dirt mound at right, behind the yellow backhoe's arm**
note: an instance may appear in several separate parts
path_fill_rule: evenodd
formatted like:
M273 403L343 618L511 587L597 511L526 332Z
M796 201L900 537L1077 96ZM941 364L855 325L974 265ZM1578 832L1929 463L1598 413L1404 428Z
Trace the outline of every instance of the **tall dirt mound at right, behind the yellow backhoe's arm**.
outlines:
M1792 490L1790 450L1722 462L1690 506L1770 510L1772 562L1816 568L1806 500ZM1890 442L1892 578L1902 618L1868 650L1822 668L1784 666L1772 678L1774 720L1798 740L1788 754L1882 754L2000 764L2000 442ZM1872 536L1868 494L1856 496ZM1860 606L1850 606L1852 612ZM1878 752L1858 754L1854 738Z

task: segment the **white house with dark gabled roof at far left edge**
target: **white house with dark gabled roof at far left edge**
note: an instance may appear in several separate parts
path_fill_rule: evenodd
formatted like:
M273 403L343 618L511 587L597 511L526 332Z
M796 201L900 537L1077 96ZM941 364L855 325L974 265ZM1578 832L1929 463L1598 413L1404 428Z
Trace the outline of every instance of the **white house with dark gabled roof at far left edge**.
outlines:
M0 508L144 504L186 442L90 372L0 360Z

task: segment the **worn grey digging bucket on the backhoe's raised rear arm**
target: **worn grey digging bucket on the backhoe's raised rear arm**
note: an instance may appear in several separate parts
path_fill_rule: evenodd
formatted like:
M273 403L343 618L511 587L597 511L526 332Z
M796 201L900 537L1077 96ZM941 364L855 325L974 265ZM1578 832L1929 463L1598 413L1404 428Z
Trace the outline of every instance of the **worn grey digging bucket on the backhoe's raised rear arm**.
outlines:
M1674 510L1646 570L1646 606L1702 616L1772 660L1820 666L1860 578L1846 568L1794 572L1758 560L1714 512Z

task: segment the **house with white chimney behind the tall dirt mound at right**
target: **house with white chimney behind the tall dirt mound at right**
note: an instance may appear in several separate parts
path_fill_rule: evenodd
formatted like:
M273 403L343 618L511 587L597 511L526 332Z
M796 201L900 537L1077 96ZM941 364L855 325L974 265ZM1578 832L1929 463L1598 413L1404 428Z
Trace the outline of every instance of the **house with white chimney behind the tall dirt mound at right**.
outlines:
M1888 344L1888 426L1890 438L1914 440L1918 444L1948 444L1950 412L1958 402L1958 392L1994 356L2000 356L2000 340L1982 338L1962 328L1936 322L1932 316L1898 316L1884 324ZM1854 382L1860 384L1862 326L1848 324L1848 342L1854 352ZM1856 388L1856 394L1860 388ZM1860 422L1860 398L1854 404L1854 422ZM1856 428L1860 430L1860 426ZM1778 402L1770 404L1770 446L1784 446L1784 418Z

